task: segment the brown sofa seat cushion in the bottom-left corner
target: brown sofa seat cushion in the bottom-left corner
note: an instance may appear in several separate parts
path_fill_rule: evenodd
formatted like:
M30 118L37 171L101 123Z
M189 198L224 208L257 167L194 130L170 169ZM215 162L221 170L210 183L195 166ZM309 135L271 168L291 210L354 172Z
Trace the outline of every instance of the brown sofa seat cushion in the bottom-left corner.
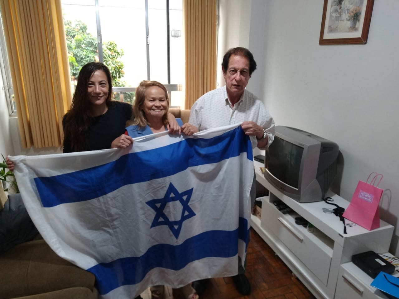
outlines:
M60 258L44 240L19 244L0 256L0 299L86 287L95 277Z

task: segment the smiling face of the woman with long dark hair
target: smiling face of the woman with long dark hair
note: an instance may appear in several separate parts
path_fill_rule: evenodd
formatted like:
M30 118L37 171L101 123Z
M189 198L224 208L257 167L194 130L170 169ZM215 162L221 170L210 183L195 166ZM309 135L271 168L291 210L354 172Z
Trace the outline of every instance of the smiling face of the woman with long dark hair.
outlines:
M107 75L104 71L95 71L89 81L87 82L87 94L89 95L89 102L93 108L100 108L107 106L105 101L108 98L109 85Z

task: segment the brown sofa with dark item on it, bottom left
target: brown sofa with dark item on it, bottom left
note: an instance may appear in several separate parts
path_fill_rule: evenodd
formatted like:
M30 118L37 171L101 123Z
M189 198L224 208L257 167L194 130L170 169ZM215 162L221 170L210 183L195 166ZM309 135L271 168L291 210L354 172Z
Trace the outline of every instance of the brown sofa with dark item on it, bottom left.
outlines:
M19 194L0 202L0 299L98 297L94 275L51 250Z

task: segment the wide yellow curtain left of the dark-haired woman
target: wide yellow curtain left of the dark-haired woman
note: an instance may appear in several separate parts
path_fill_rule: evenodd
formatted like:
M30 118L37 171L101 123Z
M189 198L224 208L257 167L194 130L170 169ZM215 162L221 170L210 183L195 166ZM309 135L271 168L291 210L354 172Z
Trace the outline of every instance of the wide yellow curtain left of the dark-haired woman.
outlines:
M61 1L0 5L22 146L60 146L72 98Z

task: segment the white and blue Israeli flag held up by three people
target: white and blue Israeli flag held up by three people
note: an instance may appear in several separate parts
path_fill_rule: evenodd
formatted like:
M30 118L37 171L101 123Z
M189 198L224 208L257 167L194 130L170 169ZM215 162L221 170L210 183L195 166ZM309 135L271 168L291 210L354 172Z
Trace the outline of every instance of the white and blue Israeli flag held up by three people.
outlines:
M254 166L239 125L10 158L40 234L95 275L102 298L236 275L245 260Z

